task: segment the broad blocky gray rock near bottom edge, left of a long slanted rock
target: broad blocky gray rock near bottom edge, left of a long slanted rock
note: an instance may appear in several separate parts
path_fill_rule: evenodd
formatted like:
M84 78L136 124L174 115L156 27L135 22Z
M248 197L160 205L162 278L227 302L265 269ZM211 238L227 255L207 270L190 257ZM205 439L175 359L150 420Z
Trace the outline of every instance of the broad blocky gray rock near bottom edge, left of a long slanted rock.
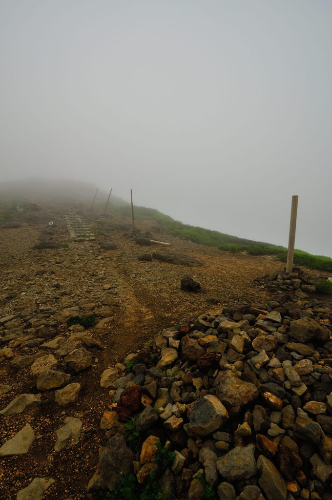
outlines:
M248 479L256 473L254 459L255 445L236 446L225 455L217 459L216 466L219 473L227 481Z

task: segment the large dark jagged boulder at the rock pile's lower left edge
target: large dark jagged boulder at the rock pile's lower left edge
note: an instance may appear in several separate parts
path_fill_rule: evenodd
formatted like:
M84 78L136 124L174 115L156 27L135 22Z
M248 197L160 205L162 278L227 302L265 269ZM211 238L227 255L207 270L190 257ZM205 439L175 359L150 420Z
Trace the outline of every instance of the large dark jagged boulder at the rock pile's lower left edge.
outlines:
M132 471L134 459L135 455L127 447L123 435L115 434L108 439L100 455L95 473L87 485L87 492L104 488L113 491L120 472L127 476Z

